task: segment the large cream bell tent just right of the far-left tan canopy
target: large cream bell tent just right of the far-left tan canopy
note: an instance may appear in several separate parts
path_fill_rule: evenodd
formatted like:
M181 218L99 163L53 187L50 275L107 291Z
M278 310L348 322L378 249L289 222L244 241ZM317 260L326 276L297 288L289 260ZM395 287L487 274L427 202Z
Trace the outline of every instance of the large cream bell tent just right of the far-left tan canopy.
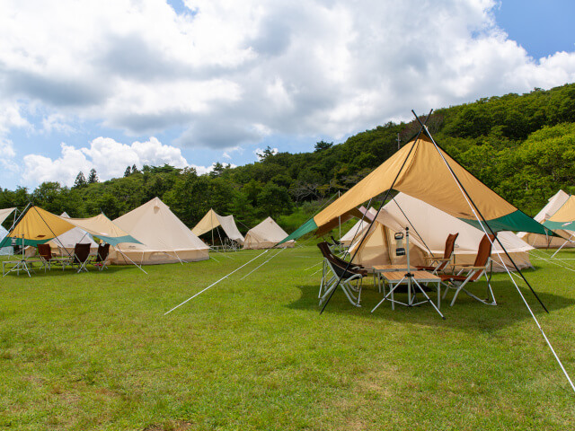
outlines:
M119 243L117 248L125 256L111 251L111 263L129 264L132 259L140 265L155 265L209 259L208 246L160 198L118 217L114 224L142 243Z

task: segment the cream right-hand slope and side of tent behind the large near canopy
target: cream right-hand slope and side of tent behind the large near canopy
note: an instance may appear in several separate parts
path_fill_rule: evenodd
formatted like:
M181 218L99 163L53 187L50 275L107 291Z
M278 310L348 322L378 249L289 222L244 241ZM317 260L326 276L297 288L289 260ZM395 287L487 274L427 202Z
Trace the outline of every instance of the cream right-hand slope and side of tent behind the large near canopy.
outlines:
M447 235L449 233L459 233L456 240L455 261L461 264L473 264L479 242L484 235L479 229L404 193L399 193L384 208L399 224L409 226L411 235L420 238L420 243L423 245L422 249L427 252L427 248L429 248L436 257L443 256ZM403 213L409 217L409 221L403 216L402 209ZM529 260L529 251L533 250L533 247L511 232L500 232L498 233L498 238L518 268L532 267ZM494 262L493 271L505 270L501 265L499 256L509 269L513 269L513 264L496 242L492 247L491 253L491 259Z

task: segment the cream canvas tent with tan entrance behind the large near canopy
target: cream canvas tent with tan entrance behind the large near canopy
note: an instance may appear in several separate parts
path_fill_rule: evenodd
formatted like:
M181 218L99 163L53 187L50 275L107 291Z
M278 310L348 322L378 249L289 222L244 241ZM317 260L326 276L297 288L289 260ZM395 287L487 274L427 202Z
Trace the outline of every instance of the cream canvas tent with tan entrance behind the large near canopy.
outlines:
M471 224L449 216L438 208L404 193L399 193L394 200L385 205L377 216L375 225L377 228L372 228L373 232L368 233L366 241L354 260L360 264L372 266L403 263L404 257L403 260L394 258L394 233L405 227L410 228L410 243L413 244L410 248L412 265L426 265L425 255L442 257L449 233L459 233L454 251L455 263L473 264L479 242L484 234ZM514 233L500 232L498 237L518 268L532 267L529 251L533 250L533 247L517 238ZM354 250L352 246L351 252ZM496 242L491 252L494 272L505 270L499 256L509 270L514 269L509 258Z

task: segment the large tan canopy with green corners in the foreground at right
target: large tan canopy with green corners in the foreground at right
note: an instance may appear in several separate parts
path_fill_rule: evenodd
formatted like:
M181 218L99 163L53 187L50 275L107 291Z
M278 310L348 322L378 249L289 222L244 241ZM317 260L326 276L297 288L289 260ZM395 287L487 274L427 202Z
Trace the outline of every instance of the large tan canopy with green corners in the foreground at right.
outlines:
M283 242L297 239L332 222L333 219L346 214L370 198L392 189L392 186L397 191L420 199L450 216L481 229L481 224L477 221L480 216L473 214L473 209L464 197L454 174L494 232L522 231L549 234L542 224L509 204L456 163L449 154L436 148L428 136L421 135L404 145L385 163L359 181L332 205L325 207L323 211L300 226Z

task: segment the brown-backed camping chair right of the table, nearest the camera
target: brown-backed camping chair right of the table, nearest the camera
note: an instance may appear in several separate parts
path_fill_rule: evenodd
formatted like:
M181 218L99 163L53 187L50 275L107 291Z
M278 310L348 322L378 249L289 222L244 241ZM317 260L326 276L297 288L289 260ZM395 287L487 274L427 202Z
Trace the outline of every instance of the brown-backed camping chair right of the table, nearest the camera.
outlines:
M444 298L446 297L447 291L449 289L456 290L456 293L453 295L453 299L451 301L451 306L453 306L453 304L456 302L456 297L462 290L467 295L481 303L485 303L487 305L497 305L495 302L495 296L493 296L493 290L491 289L490 277L487 277L487 269L489 268L491 261L491 243L494 240L495 235L489 235L489 237L487 235L483 235L482 241L479 242L477 256L475 257L475 261L473 262L472 266L461 265L463 268L456 275L439 275L439 277L441 277L441 284L446 287L446 291L443 294ZM464 271L467 271L466 275L463 275ZM487 280L487 299L478 298L477 296L464 289L464 286L467 285L467 283L474 283L479 281L482 276L485 276L485 279ZM491 302L489 302L490 295Z

